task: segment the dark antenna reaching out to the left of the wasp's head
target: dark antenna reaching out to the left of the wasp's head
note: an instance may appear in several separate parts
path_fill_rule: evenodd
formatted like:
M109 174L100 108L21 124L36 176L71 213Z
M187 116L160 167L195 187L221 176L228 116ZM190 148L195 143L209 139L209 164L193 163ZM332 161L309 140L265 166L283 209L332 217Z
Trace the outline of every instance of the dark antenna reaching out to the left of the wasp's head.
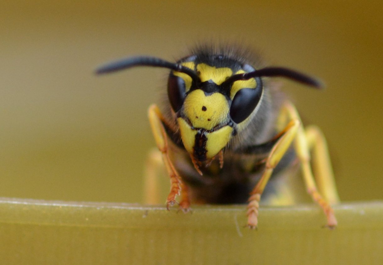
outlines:
M194 81L200 81L197 73L183 65L168 62L157 57L147 57L147 56L139 56L139 57L129 57L126 59L122 59L119 61L110 62L108 64L102 65L96 69L96 74L107 74L111 72L116 72L123 69L129 69L131 67L136 66L153 66L153 67L162 67L168 68L171 70L175 70L177 72L182 72L191 77Z

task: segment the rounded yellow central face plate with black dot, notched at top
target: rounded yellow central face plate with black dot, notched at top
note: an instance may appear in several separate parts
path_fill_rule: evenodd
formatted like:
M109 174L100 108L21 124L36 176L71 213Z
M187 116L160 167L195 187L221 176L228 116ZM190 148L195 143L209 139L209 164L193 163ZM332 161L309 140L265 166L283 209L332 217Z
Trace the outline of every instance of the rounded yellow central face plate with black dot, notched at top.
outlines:
M229 114L229 105L221 93L206 96L200 89L190 92L183 103L184 112L195 128L211 130L224 123Z

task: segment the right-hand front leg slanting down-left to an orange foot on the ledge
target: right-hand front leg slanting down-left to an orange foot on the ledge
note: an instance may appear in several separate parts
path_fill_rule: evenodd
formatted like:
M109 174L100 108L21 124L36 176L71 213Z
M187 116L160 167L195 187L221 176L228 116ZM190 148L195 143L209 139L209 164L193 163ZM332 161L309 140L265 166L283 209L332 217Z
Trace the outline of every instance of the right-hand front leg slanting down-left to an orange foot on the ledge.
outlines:
M247 226L251 229L256 229L258 225L258 209L262 192L273 173L273 169L277 166L288 147L290 147L291 142L294 140L300 124L299 119L292 119L290 123L287 124L286 128L282 131L283 135L275 143L267 157L266 168L262 177L250 193L249 204L247 205Z

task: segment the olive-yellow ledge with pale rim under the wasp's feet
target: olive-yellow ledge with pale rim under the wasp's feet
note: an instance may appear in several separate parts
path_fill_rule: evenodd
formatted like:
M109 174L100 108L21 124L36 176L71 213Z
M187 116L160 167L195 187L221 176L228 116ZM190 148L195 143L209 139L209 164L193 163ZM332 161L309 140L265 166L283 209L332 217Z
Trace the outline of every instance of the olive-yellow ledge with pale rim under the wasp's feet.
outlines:
M0 198L1 264L383 264L383 201L334 206L322 228L314 204L162 206Z

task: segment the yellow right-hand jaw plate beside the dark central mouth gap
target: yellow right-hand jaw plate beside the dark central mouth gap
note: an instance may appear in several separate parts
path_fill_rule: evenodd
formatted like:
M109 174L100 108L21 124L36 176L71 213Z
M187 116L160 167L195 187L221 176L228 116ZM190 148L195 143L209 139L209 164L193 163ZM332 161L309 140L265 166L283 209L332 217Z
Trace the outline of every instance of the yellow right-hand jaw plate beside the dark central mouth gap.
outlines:
M206 136L208 141L206 142L206 158L213 158L219 151L221 151L230 141L233 128L230 126L224 126L221 129L210 132Z

